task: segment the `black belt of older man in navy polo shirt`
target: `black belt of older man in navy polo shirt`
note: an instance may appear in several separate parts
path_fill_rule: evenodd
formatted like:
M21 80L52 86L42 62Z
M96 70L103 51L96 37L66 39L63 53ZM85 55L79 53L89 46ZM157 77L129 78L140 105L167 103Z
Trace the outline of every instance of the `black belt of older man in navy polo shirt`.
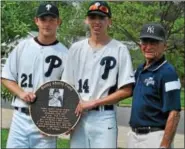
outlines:
M132 128L132 131L135 132L136 134L147 134L149 132L154 132L154 131L160 131L164 130L165 127L137 127L137 128Z

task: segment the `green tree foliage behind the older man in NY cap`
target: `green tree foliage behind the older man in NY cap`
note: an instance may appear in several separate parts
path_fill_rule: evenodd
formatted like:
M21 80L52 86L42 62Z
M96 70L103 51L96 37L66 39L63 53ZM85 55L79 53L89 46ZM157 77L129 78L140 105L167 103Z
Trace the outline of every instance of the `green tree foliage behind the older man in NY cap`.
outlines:
M175 66L184 82L184 2L110 2L113 25L110 34L119 40L133 41L139 45L139 33L143 24L160 22L167 30L167 59ZM139 49L139 47L138 47ZM137 53L137 54L136 54ZM138 51L132 51L134 66L143 62ZM139 59L138 59L138 55Z

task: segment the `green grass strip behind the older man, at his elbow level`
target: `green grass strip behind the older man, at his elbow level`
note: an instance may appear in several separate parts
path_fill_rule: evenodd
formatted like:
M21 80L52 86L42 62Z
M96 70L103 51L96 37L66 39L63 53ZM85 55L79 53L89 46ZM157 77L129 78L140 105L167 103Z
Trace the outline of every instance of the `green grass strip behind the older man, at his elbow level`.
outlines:
M181 107L182 107L182 109L184 109L184 100L185 100L184 99L184 89L182 89L181 90ZM118 105L121 107L131 106L132 105L132 97L120 101Z

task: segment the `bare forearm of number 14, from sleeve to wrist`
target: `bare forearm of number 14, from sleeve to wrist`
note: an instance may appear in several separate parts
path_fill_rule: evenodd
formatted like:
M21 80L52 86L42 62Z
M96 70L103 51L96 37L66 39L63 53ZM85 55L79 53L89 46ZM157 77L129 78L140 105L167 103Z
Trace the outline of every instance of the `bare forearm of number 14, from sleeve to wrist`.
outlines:
M123 88L117 90L115 93L110 94L101 100L95 100L96 106L115 104L122 99L128 98L132 95L132 84L126 85Z

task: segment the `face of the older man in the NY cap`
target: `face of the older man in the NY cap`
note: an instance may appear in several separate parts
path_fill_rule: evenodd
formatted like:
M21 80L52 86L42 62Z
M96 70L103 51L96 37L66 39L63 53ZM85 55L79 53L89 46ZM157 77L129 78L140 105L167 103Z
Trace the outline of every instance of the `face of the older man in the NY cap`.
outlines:
M141 40L141 51L149 61L159 59L166 49L166 43L150 38Z

